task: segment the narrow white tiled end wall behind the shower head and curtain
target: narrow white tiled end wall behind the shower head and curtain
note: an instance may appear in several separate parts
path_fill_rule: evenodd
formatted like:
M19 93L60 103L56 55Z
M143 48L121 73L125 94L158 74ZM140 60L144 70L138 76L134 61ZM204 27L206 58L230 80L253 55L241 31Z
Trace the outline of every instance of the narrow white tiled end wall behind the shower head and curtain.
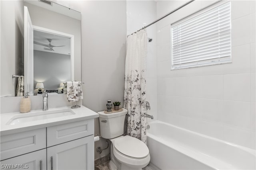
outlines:
M156 20L156 1L126 1L127 35ZM148 114L157 119L157 60L156 60L156 25L147 28L148 37L153 40L148 43L146 100L151 109ZM147 121L151 121L147 118Z

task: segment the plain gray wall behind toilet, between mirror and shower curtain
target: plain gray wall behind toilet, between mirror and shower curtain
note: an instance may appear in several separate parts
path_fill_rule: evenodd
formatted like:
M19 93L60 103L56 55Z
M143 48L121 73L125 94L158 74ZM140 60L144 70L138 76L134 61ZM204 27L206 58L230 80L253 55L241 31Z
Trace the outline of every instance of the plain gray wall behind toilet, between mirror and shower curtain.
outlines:
M82 81L83 105L93 111L106 109L106 101L124 101L126 56L126 1L83 1L82 8ZM100 134L95 119L95 134ZM105 140L95 147L106 147ZM107 155L110 149L95 159Z

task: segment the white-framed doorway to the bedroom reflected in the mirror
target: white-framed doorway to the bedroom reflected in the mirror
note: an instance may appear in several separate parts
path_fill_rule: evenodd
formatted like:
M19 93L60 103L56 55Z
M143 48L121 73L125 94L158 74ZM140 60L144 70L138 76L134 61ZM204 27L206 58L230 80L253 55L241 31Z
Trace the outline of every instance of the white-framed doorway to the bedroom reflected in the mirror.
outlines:
M74 35L34 26L33 39L33 95L42 95L36 86L41 82L48 93L65 94L63 83L74 81Z

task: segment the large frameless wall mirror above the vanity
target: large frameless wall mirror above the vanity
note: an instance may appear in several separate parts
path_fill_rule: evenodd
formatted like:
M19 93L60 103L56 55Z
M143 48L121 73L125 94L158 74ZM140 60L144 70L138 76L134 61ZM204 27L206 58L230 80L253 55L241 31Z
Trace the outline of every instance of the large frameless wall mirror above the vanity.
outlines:
M16 96L18 78L12 78L12 74L24 75L26 69L30 69L27 71L30 74L33 73L30 84L32 84L32 94L35 95L38 94L39 89L36 88L37 83L44 84L43 90L55 90L55 92L57 90L56 94L63 94L62 82L81 81L81 14L54 2L49 1L50 5L45 2L48 1L0 2L1 97ZM33 44L33 66L26 61L26 49L23 48L25 47L23 44L24 6L28 8L34 27L33 41L36 44ZM68 41L70 44L67 43ZM50 47L49 44L65 46ZM28 77L24 77L24 87L28 85Z

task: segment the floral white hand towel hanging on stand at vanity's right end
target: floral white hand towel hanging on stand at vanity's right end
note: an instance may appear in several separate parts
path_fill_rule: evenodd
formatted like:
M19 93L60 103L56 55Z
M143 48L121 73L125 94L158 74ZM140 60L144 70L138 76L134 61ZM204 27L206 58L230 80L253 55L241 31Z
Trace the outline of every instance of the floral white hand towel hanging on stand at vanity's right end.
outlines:
M75 102L83 99L82 82L67 82L68 102Z

